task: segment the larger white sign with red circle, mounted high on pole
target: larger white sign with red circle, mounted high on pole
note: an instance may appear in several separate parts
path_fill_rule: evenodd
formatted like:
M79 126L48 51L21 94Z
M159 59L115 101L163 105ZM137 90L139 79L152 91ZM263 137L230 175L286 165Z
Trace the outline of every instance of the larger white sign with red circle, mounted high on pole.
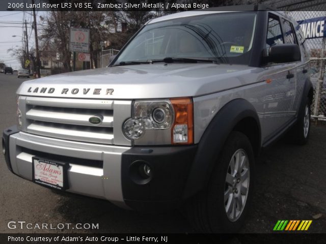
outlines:
M70 51L89 52L90 30L84 28L70 28Z

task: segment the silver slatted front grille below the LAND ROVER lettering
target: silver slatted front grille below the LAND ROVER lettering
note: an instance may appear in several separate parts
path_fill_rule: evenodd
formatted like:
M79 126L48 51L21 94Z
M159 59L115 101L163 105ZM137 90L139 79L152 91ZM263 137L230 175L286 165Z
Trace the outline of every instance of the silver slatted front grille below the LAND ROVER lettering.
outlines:
M117 144L114 125L119 125L118 129L121 131L121 121L127 119L131 113L128 111L115 114L114 107L115 102L111 100L38 97L20 97L19 100L19 108L24 111L21 111L25 122L23 131L46 137L102 144ZM102 118L99 125L89 121L90 117L96 115ZM115 115L119 124L115 123ZM130 144L126 139L124 143L121 132L116 134L120 136L119 144Z

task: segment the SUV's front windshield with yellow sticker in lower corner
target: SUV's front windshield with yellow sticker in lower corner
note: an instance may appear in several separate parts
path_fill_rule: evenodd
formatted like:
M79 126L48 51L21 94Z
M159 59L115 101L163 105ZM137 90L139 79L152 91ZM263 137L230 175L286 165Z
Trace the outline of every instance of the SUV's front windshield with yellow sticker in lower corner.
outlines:
M151 63L167 57L249 64L256 13L228 12L146 25L114 65Z

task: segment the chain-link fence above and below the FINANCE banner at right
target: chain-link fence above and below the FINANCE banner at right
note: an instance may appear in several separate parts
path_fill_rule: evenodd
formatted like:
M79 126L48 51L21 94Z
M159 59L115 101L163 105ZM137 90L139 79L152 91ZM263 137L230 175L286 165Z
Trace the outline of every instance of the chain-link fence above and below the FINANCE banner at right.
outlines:
M324 17L326 11L288 11L287 14L300 21ZM305 27L308 28L308 26ZM318 120L326 120L325 41L326 39L322 37L306 39L306 46L310 52L310 78L314 86L314 100L311 111L312 117L318 118Z

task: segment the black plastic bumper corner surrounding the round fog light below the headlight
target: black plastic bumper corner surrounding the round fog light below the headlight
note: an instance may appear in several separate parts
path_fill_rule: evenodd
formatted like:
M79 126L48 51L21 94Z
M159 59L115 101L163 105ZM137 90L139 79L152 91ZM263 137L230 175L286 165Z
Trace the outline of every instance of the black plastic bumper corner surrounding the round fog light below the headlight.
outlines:
M126 204L142 211L177 207L196 150L197 145L133 147L123 153L121 181ZM150 176L142 172L144 164L150 167Z

